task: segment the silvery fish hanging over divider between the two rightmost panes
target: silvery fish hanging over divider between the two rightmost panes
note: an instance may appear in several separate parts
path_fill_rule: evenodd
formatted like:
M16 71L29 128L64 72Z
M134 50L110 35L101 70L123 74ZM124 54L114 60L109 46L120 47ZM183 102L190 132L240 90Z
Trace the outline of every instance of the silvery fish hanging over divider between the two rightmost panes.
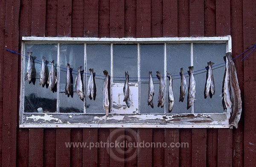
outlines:
M194 78L194 66L189 66L189 93L188 93L188 106L187 110L192 106L195 100L195 78Z

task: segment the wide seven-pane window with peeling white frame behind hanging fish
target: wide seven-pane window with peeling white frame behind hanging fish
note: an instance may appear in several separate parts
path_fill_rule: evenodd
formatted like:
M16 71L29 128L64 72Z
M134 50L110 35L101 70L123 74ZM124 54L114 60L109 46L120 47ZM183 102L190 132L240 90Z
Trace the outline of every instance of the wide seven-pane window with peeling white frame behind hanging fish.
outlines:
M225 65L223 56L231 51L231 37L183 37L183 38L71 38L71 37L23 37L21 56L20 127L229 127L230 117L223 110L221 93ZM32 52L32 81L26 80L28 57ZM46 64L46 82L54 60L57 82L50 91L49 85L39 84L41 60ZM50 62L51 61L51 62ZM213 69L215 95L204 99L207 62L215 62ZM70 74L71 93L65 94L67 63L73 69ZM188 109L187 98L179 102L180 68L184 73L194 66L196 82L195 102ZM85 98L76 94L75 80L82 66L82 82ZM89 69L96 73L96 98L87 97ZM103 109L103 72L110 77L111 113L105 119ZM200 71L199 71L200 70ZM129 73L131 106L123 102L125 71ZM154 82L154 108L148 105L148 72ZM157 107L159 80L156 71L163 74L166 84L165 105ZM169 79L173 78L174 108L168 111ZM189 85L188 74L185 74ZM186 91L187 96L188 91Z

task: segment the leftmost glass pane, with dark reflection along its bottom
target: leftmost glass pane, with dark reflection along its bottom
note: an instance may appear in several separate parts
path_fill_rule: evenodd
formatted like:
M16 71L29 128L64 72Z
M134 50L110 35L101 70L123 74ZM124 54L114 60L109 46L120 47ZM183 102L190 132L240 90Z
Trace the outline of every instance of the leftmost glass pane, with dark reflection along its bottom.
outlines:
M41 60L42 57L46 57L45 60L52 61L55 60L55 65L57 65L57 45L56 44L27 44L25 45L25 53L33 52L32 56L36 57L36 60L32 61L32 82L25 80L24 88L24 112L25 113L37 113L38 108L40 112L44 113L54 113L56 112L57 106L57 87L53 91L50 91L49 85L47 84L49 71L51 69L51 63L46 65L46 81L45 85L39 85L39 78L41 72ZM28 57L25 61L25 75L27 73ZM25 76L24 75L24 76ZM55 67L55 75L57 76L57 69Z

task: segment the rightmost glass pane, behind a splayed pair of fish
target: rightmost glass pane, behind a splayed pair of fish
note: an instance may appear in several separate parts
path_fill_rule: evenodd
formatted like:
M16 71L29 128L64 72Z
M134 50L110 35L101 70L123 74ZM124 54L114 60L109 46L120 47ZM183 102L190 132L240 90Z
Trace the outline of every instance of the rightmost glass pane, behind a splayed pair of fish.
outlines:
M223 57L226 55L226 44L194 44L193 49L195 66L194 71L205 68L207 66L207 62L209 61L214 62L214 65L224 62ZM204 99L204 87L207 70L204 69L203 71L195 72L195 99L197 99L194 102L195 113L224 112L221 101L221 92L225 67L221 66L224 66L224 64L212 68L215 82L215 95L213 95L212 98L208 96L207 99ZM205 73L199 74L201 72Z

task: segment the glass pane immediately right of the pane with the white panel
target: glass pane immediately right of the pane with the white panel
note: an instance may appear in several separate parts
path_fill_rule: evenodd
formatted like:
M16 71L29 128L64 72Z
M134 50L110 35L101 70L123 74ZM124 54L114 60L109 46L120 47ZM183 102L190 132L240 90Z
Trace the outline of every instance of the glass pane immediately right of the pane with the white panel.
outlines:
M154 108L148 105L148 72L152 71L154 82ZM164 107L157 107L159 94L159 80L156 71L160 71L164 76L164 45L140 45L140 113L164 113ZM165 103L166 106L166 103Z

